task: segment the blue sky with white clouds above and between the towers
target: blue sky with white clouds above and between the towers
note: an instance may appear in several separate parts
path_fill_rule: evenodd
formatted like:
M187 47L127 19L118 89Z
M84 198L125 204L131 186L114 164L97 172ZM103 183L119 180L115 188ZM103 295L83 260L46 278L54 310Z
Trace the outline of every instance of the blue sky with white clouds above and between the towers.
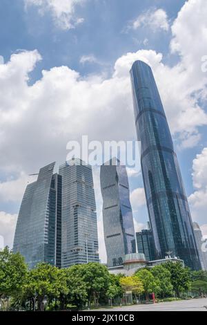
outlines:
M12 248L28 176L66 160L69 140L135 140L129 71L152 67L193 221L207 236L207 1L0 1L0 243ZM99 254L106 261L99 168ZM148 213L128 169L135 230Z

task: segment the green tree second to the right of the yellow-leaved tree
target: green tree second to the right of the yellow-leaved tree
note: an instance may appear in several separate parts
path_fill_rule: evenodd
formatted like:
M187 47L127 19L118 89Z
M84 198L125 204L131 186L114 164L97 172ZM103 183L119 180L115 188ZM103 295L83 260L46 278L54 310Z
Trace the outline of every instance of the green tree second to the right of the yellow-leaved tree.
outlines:
M152 275L157 280L157 294L161 297L172 295L173 286L170 281L170 271L162 265L151 269Z

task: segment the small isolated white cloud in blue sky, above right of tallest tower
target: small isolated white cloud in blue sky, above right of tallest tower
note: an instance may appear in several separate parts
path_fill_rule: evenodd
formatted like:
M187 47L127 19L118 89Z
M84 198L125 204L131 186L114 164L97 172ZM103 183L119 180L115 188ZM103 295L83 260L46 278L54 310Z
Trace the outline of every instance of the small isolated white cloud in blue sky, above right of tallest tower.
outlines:
M132 28L137 29L141 26L149 27L153 32L157 30L169 30L168 15L163 9L150 9L139 15L135 21L132 22Z

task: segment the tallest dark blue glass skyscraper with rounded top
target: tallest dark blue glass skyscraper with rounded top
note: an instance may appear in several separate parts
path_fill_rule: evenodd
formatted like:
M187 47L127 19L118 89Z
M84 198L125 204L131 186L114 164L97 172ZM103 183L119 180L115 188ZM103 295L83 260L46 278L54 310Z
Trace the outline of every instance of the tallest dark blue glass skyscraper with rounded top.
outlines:
M186 266L201 268L188 201L170 129L148 64L136 61L131 71L141 170L157 258L170 252Z

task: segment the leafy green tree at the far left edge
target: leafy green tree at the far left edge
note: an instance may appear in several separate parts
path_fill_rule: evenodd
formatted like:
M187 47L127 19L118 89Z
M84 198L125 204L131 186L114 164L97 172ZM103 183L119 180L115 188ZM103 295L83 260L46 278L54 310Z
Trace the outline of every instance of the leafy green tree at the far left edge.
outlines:
M13 253L8 247L0 252L0 299L21 295L26 279L27 266L19 253Z

